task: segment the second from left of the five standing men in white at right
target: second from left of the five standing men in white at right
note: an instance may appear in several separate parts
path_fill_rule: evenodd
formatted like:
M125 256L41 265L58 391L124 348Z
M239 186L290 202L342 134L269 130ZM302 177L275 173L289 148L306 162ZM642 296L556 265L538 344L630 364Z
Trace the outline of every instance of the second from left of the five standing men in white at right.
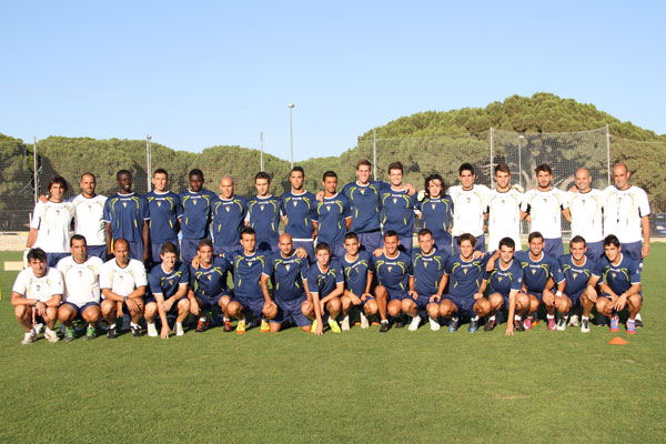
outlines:
M515 250L521 251L521 203L523 193L511 185L508 165L501 162L495 167L497 186L488 192L488 251L498 249L504 238L513 239Z

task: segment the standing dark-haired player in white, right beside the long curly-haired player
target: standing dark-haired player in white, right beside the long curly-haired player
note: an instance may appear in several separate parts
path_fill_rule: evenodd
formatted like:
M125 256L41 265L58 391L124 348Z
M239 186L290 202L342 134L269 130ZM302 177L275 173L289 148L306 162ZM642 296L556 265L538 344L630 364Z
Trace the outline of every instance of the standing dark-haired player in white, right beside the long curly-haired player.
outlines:
M458 168L461 184L448 189L448 194L453 200L452 234L454 254L460 253L457 238L464 233L470 233L476 239L474 250L485 251L484 211L491 190L486 185L474 184L475 179L474 167L470 163L463 163Z

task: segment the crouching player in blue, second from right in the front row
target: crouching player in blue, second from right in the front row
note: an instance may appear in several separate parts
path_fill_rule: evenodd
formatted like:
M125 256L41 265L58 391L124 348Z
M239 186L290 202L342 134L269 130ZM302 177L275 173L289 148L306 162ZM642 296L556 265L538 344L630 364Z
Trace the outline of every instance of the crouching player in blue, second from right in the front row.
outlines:
M576 235L572 239L569 251L569 254L559 256L557 260L566 281L564 296L571 300L572 309L577 309L583 304L584 313L581 321L581 332L587 333L589 332L589 312L592 312L594 306L591 300L594 299L596 301L597 299L595 286L602 275L597 270L597 263L587 256L587 243L583 236ZM574 316L577 315L574 313L572 317ZM561 316L557 321L557 330L562 331L565 329L566 317Z

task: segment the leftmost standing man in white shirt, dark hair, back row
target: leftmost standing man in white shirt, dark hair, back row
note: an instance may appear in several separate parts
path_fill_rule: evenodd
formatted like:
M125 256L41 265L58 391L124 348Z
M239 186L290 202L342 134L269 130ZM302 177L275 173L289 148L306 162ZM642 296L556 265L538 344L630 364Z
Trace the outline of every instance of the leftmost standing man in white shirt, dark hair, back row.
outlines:
M37 202L28 233L29 249L39 248L47 253L47 266L69 255L69 231L74 218L74 205L64 202L68 185L56 176L49 182L49 200Z

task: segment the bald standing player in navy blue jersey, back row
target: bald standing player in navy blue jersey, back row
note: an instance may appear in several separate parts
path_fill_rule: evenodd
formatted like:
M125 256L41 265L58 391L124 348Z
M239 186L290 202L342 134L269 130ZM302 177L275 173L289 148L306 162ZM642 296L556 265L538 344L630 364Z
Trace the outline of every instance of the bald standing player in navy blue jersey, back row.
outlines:
M213 201L213 251L223 255L241 250L241 230L245 226L248 200L235 195L231 175L220 180L220 198Z

